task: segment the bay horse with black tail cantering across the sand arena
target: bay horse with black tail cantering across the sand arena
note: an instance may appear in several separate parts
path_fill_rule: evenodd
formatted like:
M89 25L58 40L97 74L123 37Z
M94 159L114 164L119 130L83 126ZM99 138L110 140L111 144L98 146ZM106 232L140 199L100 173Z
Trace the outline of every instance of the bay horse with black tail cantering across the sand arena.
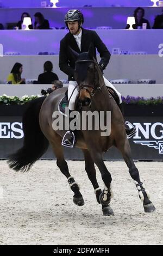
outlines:
M155 207L149 200L149 192L143 185L139 171L131 157L123 115L105 86L102 72L95 58L93 58L92 47L89 48L88 52L79 54L72 51L72 54L76 58L74 74L79 90L77 101L80 102L80 113L83 111L111 112L111 132L109 136L101 136L100 129L78 130L76 133L76 147L82 149L84 153L85 170L95 190L97 202L102 205L103 215L114 214L109 205L112 196L112 178L102 157L102 154L112 146L122 153L123 159L129 168L129 174L134 180L139 197L143 202L145 212L153 212ZM83 196L80 193L79 185L68 170L63 147L61 146L62 138L66 131L57 130L53 127L53 121L56 120L56 117L53 117L53 113L58 111L59 102L65 96L66 90L67 88L65 87L57 89L47 97L40 97L29 102L22 120L24 131L23 147L10 155L8 162L10 168L25 172L32 167L36 160L40 159L50 144L57 158L57 166L61 173L66 176L68 184L74 193L74 204L82 206L84 205ZM64 121L66 121L66 117L64 117ZM99 188L96 179L95 164L104 182L103 191Z

